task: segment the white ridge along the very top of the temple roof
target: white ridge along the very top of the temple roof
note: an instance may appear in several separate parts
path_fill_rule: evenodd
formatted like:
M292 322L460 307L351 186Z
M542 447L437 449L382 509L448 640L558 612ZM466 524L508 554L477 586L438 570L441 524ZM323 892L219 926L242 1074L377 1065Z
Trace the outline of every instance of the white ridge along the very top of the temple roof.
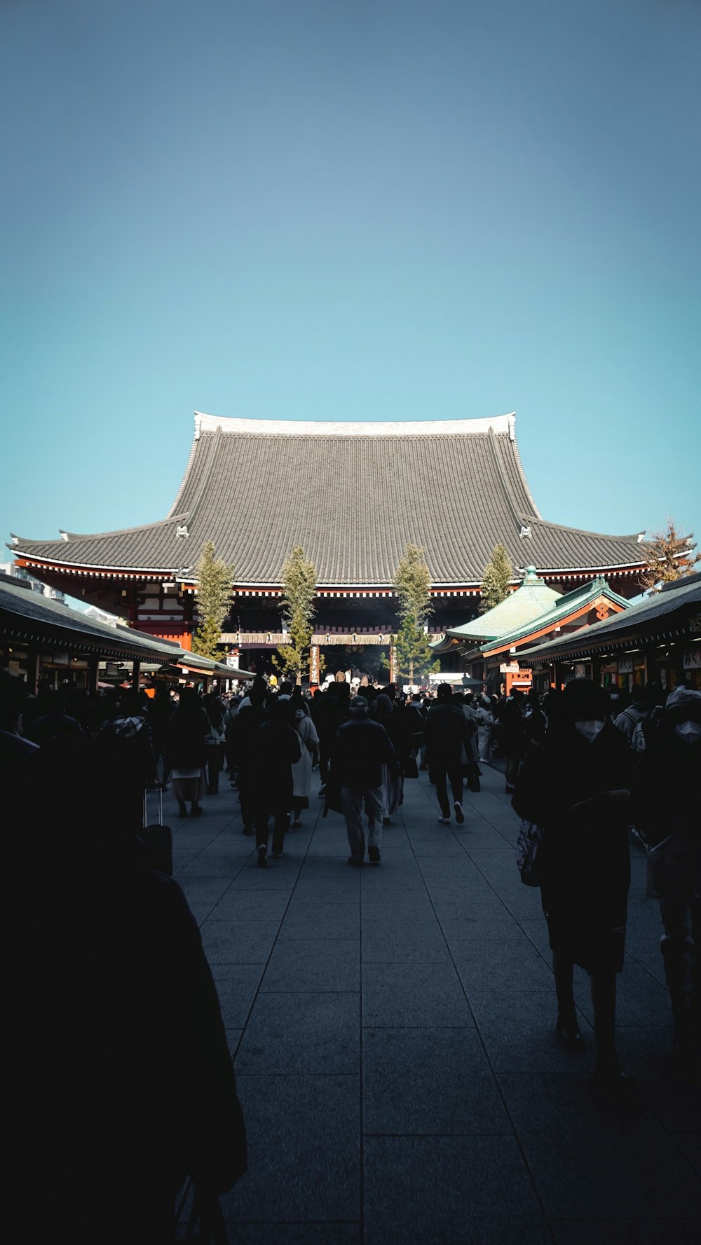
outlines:
M382 422L344 422L336 420L248 420L194 412L194 437L202 432L250 432L255 436L286 437L427 437L441 435L479 436L492 428L513 439L515 416L489 416L483 420L405 420Z

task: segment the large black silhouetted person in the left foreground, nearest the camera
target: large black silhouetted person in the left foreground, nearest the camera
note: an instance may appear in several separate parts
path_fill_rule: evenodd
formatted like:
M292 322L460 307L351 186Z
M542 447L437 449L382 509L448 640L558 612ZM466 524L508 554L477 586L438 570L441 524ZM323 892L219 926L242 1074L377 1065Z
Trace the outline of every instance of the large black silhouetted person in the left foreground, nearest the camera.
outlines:
M60 737L30 768L5 844L4 1231L172 1245L186 1177L207 1201L247 1167L217 990L181 888L125 825L111 754Z

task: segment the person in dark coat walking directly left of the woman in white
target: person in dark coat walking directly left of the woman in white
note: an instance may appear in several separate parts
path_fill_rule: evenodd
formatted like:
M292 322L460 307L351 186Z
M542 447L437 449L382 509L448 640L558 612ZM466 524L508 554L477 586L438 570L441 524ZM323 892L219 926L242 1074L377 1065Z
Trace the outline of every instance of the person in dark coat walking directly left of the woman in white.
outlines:
M290 716L289 697L273 701L270 718L259 726L254 740L255 848L260 869L265 869L268 864L270 817L273 817L273 858L281 857L285 847L294 793L291 767L301 756L300 737L290 723Z

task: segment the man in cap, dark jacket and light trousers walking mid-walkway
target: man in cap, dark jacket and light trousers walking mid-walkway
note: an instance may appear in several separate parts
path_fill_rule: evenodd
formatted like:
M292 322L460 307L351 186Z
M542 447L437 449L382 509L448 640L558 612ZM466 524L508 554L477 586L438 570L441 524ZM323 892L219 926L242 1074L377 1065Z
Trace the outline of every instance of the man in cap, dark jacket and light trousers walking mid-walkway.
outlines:
M398 779L400 766L392 741L380 722L369 717L365 696L354 696L350 718L339 727L331 753L331 771L341 784L341 804L349 837L349 864L365 860L362 803L367 813L367 858L380 864L382 838L382 766Z

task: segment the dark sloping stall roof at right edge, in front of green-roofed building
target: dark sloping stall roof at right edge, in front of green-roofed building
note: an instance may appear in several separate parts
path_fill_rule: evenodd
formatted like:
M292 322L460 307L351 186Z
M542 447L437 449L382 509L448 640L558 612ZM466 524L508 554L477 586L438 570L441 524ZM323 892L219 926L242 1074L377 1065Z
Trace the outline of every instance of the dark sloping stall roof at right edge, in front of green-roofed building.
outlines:
M655 642L665 639L701 639L701 573L686 575L666 584L655 596L616 614L613 619L593 622L573 635L550 640L519 652L534 665L560 657L585 657L594 654L629 647L633 642Z

